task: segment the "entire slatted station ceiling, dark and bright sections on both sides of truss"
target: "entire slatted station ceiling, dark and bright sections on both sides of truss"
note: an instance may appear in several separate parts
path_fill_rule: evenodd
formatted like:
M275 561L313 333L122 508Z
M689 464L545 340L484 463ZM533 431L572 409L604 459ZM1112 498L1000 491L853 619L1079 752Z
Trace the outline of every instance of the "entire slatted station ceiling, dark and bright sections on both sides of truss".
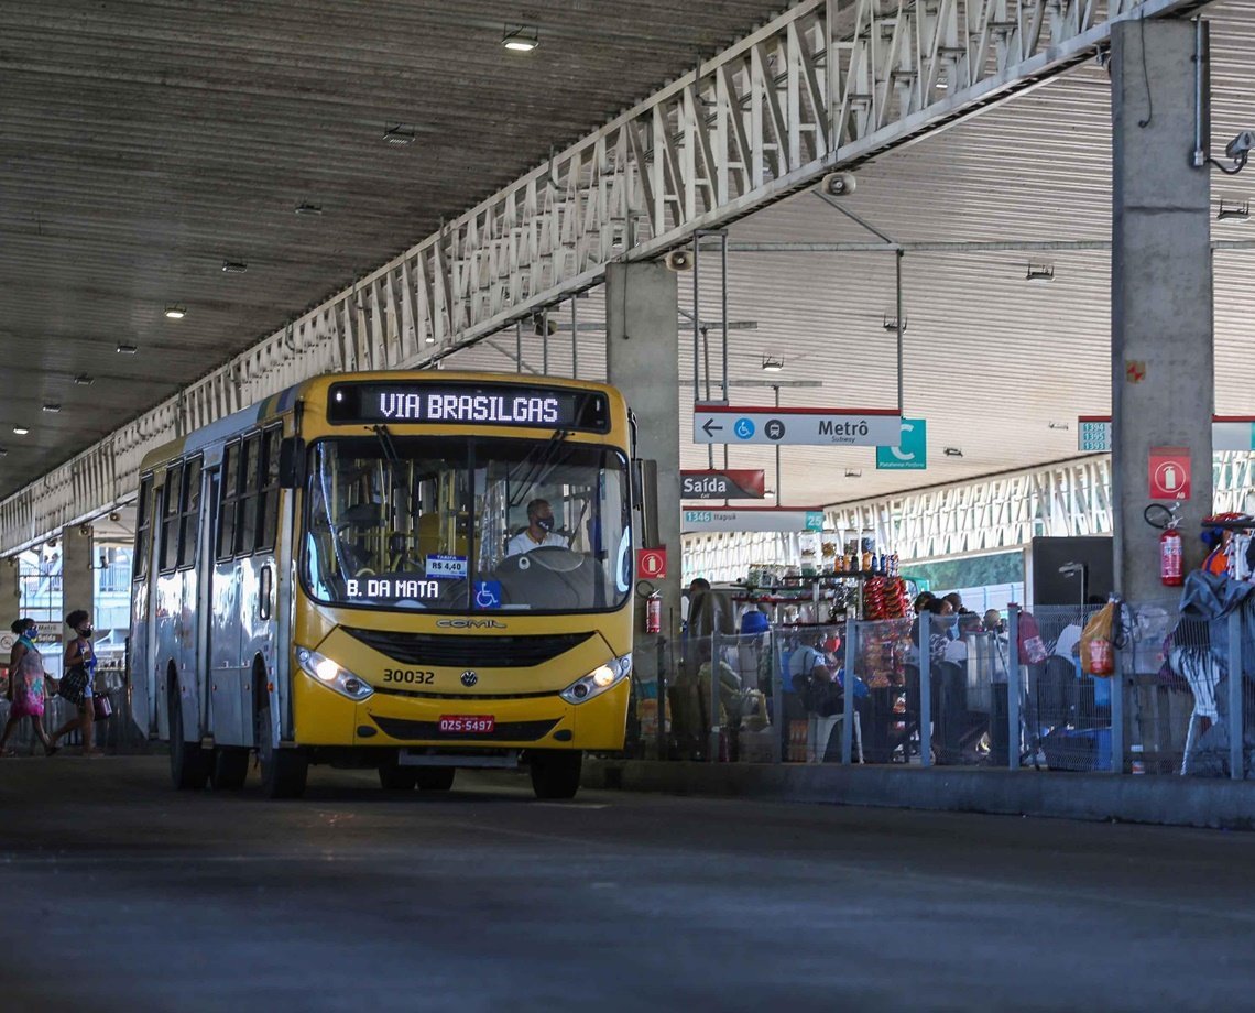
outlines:
M0 341L10 390L0 403L0 493L43 473L176 387L375 267L611 112L764 19L763 3L545 5L542 48L499 45L498 3L146 3L113 10L70 0L56 16L0 0ZM538 9L540 13L540 9ZM1212 20L1217 149L1255 126L1249 0ZM35 55L31 55L35 54ZM863 166L848 206L901 241L1088 241L1111 235L1109 82L1096 65ZM417 142L382 134L413 124ZM1153 167L1148 167L1153 171ZM1255 197L1255 171L1214 176L1214 200ZM321 216L296 216L300 202ZM1214 223L1217 240L1255 223ZM738 242L867 241L801 193L732 228ZM248 264L225 275L223 260ZM713 259L712 259L713 260ZM1029 264L1054 267L1029 282ZM1216 257L1217 410L1255 414L1246 393L1255 250ZM929 419L930 466L875 471L870 449L786 448L789 505L843 502L1076 456L1076 415L1109 407L1109 254L919 252L905 260L906 407ZM891 405L894 262L882 254L734 252L729 316L733 403L772 377L784 404ZM703 272L703 318L719 315ZM681 306L693 303L681 275ZM188 308L171 323L162 309ZM604 375L600 290L576 303L580 375ZM570 308L555 311L563 326ZM591 330L585 330L591 328ZM114 345L141 354L125 358ZM570 331L548 341L570 375ZM712 334L712 355L719 360ZM692 378L692 334L681 334ZM525 369L541 369L526 335ZM515 335L449 367L516 368ZM786 360L764 374L763 354ZM73 377L90 373L90 388ZM715 388L718 397L718 388ZM60 402L44 415L45 400ZM681 385L686 467L692 389ZM33 433L9 437L21 419ZM1068 428L1052 428L1067 426ZM948 458L944 447L961 457ZM717 452L722 463L722 451ZM774 457L738 448L734 467ZM848 472L848 474L847 474ZM769 478L768 485L774 485Z

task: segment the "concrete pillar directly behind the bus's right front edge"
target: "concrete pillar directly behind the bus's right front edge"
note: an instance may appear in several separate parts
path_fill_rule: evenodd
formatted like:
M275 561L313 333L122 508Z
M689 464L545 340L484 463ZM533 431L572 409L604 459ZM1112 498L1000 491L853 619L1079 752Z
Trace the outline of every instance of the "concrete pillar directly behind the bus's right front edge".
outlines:
M611 264L606 267L606 378L617 387L640 426L636 453L658 462L658 541L666 546L663 631L679 635L680 621L680 389L679 290L663 264ZM639 532L638 532L639 535ZM638 545L640 545L638 537ZM656 643L640 630L638 600L636 660L641 677L656 672Z

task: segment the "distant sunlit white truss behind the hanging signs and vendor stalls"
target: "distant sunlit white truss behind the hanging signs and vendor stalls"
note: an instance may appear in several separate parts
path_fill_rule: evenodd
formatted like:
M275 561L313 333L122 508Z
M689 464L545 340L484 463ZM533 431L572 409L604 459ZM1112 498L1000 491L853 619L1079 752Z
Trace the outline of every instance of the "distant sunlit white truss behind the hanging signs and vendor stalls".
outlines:
M1255 453L1220 453L1214 510L1255 512ZM827 510L842 542L875 535L904 562L1014 552L1038 536L1112 532L1111 457L1088 457L980 482L865 500ZM750 566L797 565L797 535L684 536L684 579L739 580Z

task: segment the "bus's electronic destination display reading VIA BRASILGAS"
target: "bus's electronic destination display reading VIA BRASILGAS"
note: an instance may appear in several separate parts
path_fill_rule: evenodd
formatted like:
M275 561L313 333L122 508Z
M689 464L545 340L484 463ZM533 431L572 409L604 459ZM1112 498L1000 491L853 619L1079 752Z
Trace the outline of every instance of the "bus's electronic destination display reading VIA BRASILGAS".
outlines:
M610 403L599 390L472 382L338 383L328 395L334 423L408 426L528 426L542 429L610 429Z

